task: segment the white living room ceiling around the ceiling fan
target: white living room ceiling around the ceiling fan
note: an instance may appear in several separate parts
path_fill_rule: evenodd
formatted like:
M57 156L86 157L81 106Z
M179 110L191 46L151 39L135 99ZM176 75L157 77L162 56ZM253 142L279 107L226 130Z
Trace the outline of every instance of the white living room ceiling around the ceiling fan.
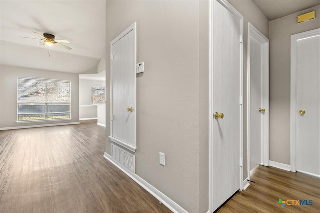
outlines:
M104 0L27 0L0 2L1 64L71 73L97 73L105 57ZM40 46L50 33L72 49ZM50 50L50 57L49 57Z

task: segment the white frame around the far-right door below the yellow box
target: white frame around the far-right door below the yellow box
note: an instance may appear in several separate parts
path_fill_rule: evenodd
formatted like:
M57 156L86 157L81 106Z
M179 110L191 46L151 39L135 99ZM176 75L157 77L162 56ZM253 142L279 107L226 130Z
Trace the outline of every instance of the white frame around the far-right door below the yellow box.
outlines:
M306 32L291 35L291 106L290 106L290 170L297 171L297 107L296 107L296 53L297 41L303 38L317 36L320 34L320 28Z

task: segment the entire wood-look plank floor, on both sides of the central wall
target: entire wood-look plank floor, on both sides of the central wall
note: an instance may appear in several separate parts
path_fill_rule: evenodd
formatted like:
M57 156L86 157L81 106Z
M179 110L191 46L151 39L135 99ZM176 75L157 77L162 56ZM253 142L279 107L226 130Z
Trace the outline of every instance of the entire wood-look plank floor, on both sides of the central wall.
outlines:
M103 157L104 141L96 120L0 131L0 213L171 212ZM320 212L319 178L258 166L251 180L217 212ZM282 208L279 198L313 204Z

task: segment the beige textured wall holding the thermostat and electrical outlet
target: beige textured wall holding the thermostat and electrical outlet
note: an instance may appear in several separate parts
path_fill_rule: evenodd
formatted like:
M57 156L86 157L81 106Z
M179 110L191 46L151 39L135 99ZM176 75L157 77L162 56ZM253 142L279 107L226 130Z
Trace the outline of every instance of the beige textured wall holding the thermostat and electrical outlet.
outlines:
M106 7L106 84L110 80L110 41L135 21L137 62L145 63L145 72L137 76L136 174L187 211L206 212L208 120L201 130L206 136L200 147L199 2L107 1ZM204 9L208 20L208 7ZM207 33L208 25L205 28ZM207 36L203 42L208 41ZM208 58L208 49L203 51ZM206 63L203 82L208 76ZM208 111L207 107L201 109ZM109 106L106 108L109 132ZM107 141L106 152L110 151ZM159 152L166 155L165 167L159 165Z

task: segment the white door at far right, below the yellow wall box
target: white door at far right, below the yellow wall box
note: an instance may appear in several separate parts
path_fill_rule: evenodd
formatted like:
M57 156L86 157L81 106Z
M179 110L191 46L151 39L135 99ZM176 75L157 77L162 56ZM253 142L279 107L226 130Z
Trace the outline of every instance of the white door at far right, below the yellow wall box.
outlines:
M296 37L299 36L299 37ZM293 35L296 170L320 176L320 29ZM291 58L292 60L292 58Z

